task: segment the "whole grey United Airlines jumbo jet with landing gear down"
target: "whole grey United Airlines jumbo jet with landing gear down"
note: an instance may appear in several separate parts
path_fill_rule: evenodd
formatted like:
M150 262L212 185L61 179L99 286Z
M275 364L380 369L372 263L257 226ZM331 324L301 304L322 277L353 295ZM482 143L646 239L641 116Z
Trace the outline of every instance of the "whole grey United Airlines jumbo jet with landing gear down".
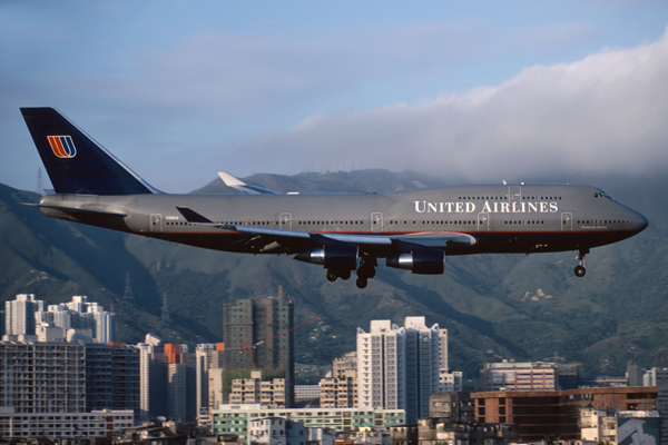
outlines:
M55 194L52 218L207 249L294 255L330 281L367 286L379 258L413 274L443 274L446 256L577 250L648 226L641 214L589 186L471 185L379 194L279 194L219 174L243 194L158 191L53 108L21 108Z

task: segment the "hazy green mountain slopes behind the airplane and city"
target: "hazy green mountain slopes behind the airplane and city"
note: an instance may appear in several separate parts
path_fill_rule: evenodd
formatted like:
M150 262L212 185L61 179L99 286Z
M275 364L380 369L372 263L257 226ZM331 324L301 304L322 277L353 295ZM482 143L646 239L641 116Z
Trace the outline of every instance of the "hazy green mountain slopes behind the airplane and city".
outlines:
M244 180L303 192L448 184L386 170ZM33 293L53 304L88 295L118 314L122 342L137 343L150 332L167 343L202 343L220 342L224 301L276 295L283 286L284 297L295 300L297 323L324 314L295 332L302 364L327 365L353 350L356 328L366 330L371 319L401 324L405 316L424 315L428 324L449 329L451 368L470 378L484 362L551 360L554 355L582 362L588 375L622 374L628 360L668 366L667 180L658 174L569 180L602 187L645 214L650 228L593 249L584 278L572 273L576 253L480 255L449 257L442 276L379 267L363 290L354 280L330 283L321 267L291 257L196 249L50 219L21 205L36 202L38 195L0 186L0 298ZM196 191L229 189L216 179ZM128 274L134 300L124 297Z

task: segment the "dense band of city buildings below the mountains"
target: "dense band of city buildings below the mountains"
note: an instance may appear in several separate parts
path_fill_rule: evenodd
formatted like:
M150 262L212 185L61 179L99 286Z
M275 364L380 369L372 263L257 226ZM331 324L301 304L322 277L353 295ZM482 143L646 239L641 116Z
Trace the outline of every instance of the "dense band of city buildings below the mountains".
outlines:
M295 385L303 324L281 294L226 303L224 342L194 352L116 342L85 296L21 294L2 317L0 444L668 444L668 369L584 382L577 363L503 360L468 392L420 316L357 328L318 385Z

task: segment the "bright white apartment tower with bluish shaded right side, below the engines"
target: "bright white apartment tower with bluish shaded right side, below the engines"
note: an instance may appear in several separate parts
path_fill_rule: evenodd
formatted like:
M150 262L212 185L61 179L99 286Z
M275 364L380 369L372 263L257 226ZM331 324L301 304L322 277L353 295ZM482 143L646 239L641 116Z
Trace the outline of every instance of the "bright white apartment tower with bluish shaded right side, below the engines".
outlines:
M406 317L404 327L372 320L357 328L358 407L405 409L406 423L429 415L429 397L439 390L439 325Z

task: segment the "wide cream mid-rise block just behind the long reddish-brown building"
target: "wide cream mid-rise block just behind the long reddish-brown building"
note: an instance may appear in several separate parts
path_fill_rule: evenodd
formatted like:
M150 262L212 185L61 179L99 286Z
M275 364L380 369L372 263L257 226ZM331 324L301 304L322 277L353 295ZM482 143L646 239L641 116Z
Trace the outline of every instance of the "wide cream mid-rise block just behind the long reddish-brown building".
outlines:
M487 363L480 370L483 390L553 390L559 373L553 363Z

